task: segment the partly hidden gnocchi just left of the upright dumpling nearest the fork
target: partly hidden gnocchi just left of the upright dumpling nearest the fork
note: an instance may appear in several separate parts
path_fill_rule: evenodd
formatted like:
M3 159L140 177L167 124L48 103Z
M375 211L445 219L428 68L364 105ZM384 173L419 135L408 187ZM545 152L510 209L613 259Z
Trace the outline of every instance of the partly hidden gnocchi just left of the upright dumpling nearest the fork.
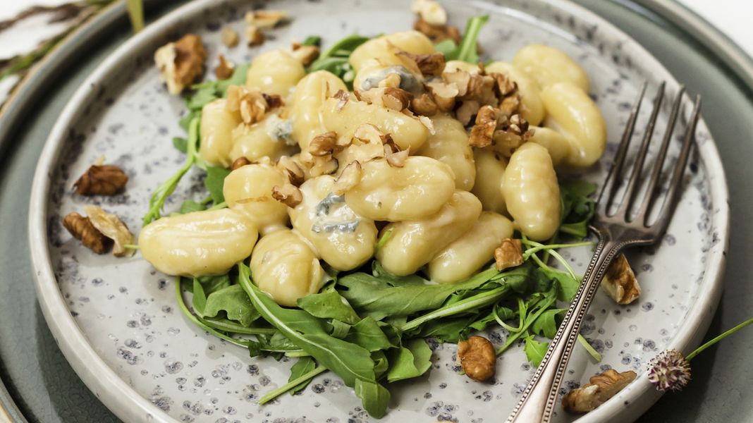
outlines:
M471 193L478 197L484 210L506 214L508 209L505 196L502 196L502 184L505 183L507 160L490 148L476 148L474 162L477 178Z

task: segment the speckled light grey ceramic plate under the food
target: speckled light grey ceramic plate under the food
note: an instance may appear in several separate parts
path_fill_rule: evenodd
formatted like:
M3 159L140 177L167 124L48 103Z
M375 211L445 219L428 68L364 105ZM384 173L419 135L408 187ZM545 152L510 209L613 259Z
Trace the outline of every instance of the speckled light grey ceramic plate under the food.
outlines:
M666 80L670 93L677 90L672 76L636 42L568 2L446 5L460 26L474 14L491 14L480 37L489 56L510 59L524 44L538 42L559 47L581 62L608 124L610 148L603 163L614 151L642 81L656 87ZM331 374L319 376L303 394L258 406L258 397L287 380L290 362L251 359L242 348L203 333L177 311L171 278L138 255L115 259L92 254L62 229L63 215L101 202L138 232L151 191L180 166L183 157L170 138L182 135L177 123L182 101L166 95L151 65L155 48L169 39L199 32L212 60L224 52L242 62L261 50L287 46L291 38L317 34L331 42L352 32L404 30L413 20L400 0L258 6L287 10L294 19L257 49L226 50L219 43L218 28L224 23L243 26L242 13L250 5L240 1L192 2L123 44L73 96L39 160L29 216L39 303L78 375L125 421L369 420L351 390ZM668 112L663 110L662 118ZM639 303L614 306L607 297L597 297L583 333L604 358L595 363L577 350L565 385L586 382L605 367L633 369L641 376L582 421L630 421L648 409L658 395L642 373L645 364L664 348L697 345L718 303L728 235L727 186L703 122L697 146L665 239L631 254L644 289ZM127 170L127 193L107 199L75 196L73 181L102 155ZM585 176L599 181L603 166ZM198 173L191 173L166 208L197 195L200 186ZM589 251L569 253L582 271ZM492 333L495 342L505 336L504 331ZM428 376L390 387L391 411L384 420L498 421L533 371L521 348L514 348L499 359L492 383L477 384L456 374L453 345L433 346L434 368ZM572 416L560 412L557 419L569 421Z

